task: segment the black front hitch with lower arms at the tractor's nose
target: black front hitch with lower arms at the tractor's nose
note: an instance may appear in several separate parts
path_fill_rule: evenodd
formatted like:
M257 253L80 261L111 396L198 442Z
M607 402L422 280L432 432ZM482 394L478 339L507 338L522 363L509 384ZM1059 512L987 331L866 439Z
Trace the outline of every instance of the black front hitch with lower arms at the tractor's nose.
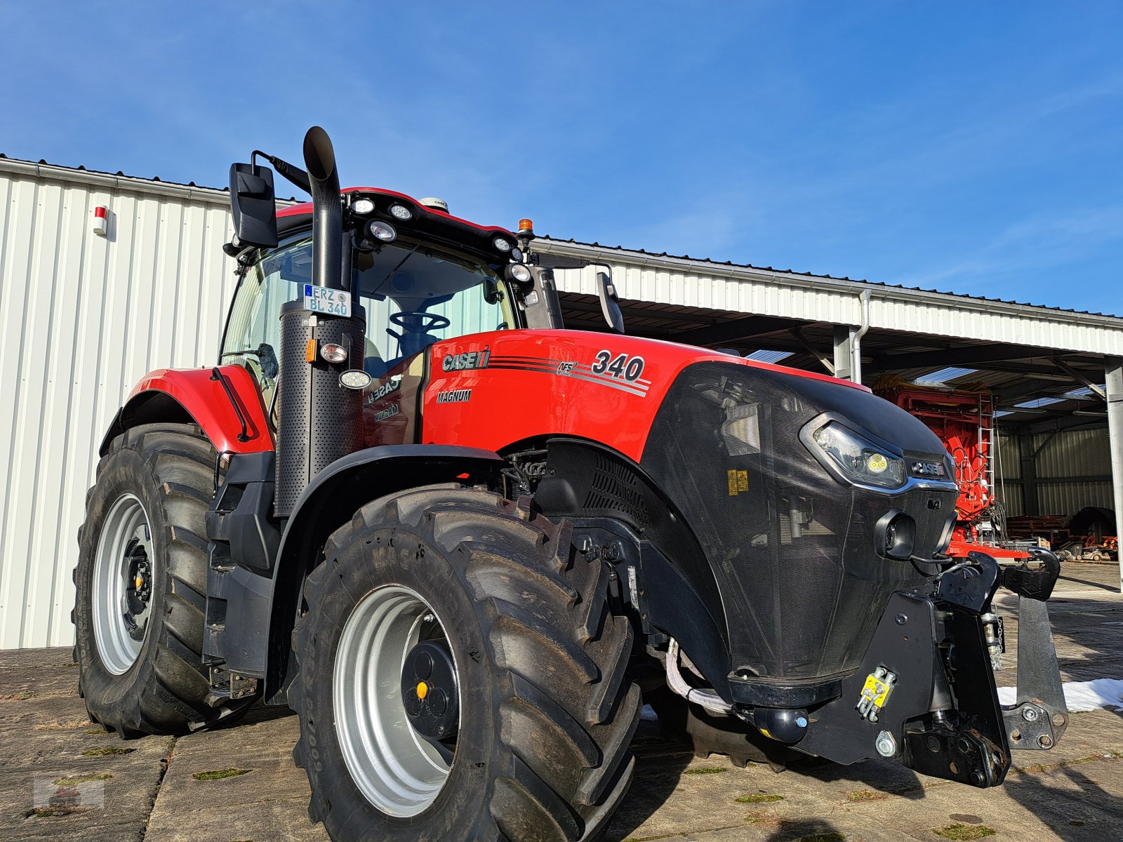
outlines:
M990 787L1005 778L1011 747L1056 745L1068 710L1044 601L1060 564L1047 550L1032 555L1040 568L1003 570L970 552L937 577L933 593L893 594L861 667L839 698L811 713L797 748L841 763L893 758ZM1008 707L998 703L994 626L984 619L1003 586L1019 596L1017 699Z

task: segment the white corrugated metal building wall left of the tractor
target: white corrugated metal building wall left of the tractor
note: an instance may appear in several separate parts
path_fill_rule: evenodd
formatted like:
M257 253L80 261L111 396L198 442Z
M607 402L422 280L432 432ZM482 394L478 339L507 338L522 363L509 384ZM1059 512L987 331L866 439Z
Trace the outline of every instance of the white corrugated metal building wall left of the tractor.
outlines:
M0 648L71 642L101 437L145 372L213 363L229 228L221 191L0 161Z

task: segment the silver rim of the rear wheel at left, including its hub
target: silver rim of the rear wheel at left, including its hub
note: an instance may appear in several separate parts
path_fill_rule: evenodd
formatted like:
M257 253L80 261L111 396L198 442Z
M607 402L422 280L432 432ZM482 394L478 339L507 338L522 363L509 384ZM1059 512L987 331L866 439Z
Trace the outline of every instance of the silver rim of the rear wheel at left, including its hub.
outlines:
M93 637L113 675L136 663L148 633L152 530L144 505L122 494L109 509L93 559Z

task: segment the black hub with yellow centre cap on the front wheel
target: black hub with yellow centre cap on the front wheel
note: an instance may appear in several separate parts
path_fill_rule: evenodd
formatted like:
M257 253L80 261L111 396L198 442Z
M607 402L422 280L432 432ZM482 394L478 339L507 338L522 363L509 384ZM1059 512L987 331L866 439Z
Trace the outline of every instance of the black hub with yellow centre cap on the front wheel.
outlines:
M456 666L444 640L424 640L405 656L402 704L410 725L426 740L447 740L459 722Z

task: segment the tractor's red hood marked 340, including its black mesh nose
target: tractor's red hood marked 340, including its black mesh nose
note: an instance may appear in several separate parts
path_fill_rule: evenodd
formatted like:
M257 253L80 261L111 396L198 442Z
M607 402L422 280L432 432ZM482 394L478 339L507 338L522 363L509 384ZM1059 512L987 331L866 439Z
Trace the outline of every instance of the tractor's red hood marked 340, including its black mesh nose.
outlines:
M663 548L725 626L730 681L746 703L830 697L889 595L923 584L914 560L951 536L957 487L943 445L849 382L583 331L438 342L428 368L423 441L510 452L568 437L638 463L703 557ZM610 473L577 488L585 515L609 513ZM628 519L618 491L614 516Z

